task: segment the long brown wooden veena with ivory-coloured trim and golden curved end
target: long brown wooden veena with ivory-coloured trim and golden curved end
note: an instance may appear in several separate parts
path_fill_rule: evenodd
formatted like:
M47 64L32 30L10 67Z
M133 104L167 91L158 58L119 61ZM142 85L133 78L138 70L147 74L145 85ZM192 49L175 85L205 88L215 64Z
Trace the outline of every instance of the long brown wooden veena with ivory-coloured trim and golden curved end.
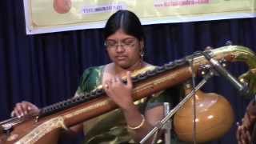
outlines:
M244 61L250 66L249 75L254 75L254 68L256 67L256 58L254 53L242 46L225 46L211 51L211 55L215 59L224 58L228 62ZM242 57L241 57L242 55ZM187 62L194 58L193 67L190 67ZM246 60L248 59L249 60ZM144 98L150 94L154 94L160 90L165 90L168 87L174 86L181 82L185 82L192 75L192 68L195 73L198 73L200 66L205 66L209 62L202 55L192 55L182 59L181 61L174 61L165 66L156 68L157 74L150 74L146 71L148 77L143 77L142 80L134 82L133 97L134 101ZM171 68L170 68L171 67ZM162 72L163 71L163 72ZM149 73L148 73L149 72ZM251 79L248 74L243 75L245 81ZM254 80L256 78L253 78ZM256 80L254 81L256 82ZM252 83L254 84L254 83ZM251 85L255 86L255 85ZM255 89L256 91L256 89ZM110 110L118 108L110 98L102 94L100 97L83 102L75 106L71 106L66 110L59 110L38 119L31 118L29 121L19 123L14 126L14 130L10 134L0 134L2 143L54 143L57 142L60 131L66 127L77 125L85 122L90 118L97 117ZM218 113L218 110L216 111Z

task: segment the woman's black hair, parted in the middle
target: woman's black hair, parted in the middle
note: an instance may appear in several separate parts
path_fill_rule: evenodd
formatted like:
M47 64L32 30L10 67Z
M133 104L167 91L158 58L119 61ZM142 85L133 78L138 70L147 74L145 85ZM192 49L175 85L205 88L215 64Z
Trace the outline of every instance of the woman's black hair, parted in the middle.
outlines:
M126 34L138 38L139 41L144 39L141 22L138 17L129 10L118 10L110 16L103 31L104 40L119 29L123 30Z

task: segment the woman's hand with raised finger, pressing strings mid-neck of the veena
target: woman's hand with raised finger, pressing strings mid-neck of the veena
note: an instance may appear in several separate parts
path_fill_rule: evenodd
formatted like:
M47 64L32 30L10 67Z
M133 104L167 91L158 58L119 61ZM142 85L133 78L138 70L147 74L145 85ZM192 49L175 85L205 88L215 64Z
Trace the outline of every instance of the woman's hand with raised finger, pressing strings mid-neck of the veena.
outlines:
M130 106L134 106L132 98L132 82L130 72L126 73L127 83L123 83L119 77L111 78L104 84L106 94L123 110L128 110Z

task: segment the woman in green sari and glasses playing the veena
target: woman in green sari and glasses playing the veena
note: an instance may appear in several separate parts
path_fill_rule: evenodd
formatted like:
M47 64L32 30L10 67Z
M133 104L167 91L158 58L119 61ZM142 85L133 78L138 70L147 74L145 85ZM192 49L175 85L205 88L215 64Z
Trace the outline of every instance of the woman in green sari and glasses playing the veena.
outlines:
M170 98L165 97L167 93L179 94L179 89L165 90L154 94L154 97L148 97L146 102L138 106L134 104L130 73L154 67L143 61L144 33L141 22L134 13L119 10L113 14L106 22L104 39L112 62L85 70L75 96L88 93L102 85L106 94L120 109L84 122L86 142L139 142L163 118L162 102ZM127 77L127 84L121 82L124 76ZM38 112L38 107L30 102L18 103L14 108L14 114L18 116L31 111ZM70 128L73 132L81 129L82 124Z

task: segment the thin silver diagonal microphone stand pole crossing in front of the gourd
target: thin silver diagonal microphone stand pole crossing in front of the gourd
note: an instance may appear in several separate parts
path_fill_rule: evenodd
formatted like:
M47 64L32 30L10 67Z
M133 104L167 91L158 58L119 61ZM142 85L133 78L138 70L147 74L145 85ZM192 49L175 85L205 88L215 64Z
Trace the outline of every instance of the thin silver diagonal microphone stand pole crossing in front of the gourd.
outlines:
M210 70L202 79L201 82L198 83L198 86L195 86L194 90L190 92L190 94L187 94L185 98L182 99L181 102L178 103L177 106L174 107L174 109L170 110L169 114L166 115L165 118L162 118L161 121L159 121L152 130L139 143L145 143L146 140L148 140L155 132L160 130L162 126L165 125L165 123L195 94L197 90L199 90L204 84L206 84L207 80L211 78L214 75L214 73Z

